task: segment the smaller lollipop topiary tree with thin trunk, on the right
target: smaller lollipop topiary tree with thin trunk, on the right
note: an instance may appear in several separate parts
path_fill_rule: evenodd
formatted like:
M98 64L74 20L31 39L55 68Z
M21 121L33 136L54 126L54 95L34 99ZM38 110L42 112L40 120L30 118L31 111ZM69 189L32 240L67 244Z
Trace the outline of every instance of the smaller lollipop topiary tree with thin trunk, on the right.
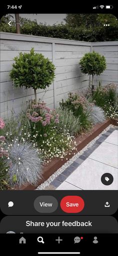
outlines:
M91 93L94 89L93 85L93 77L94 75L100 75L106 68L106 61L104 56L101 56L97 52L89 52L85 53L85 55L81 58L80 62L80 70L83 74L92 75L91 81Z

